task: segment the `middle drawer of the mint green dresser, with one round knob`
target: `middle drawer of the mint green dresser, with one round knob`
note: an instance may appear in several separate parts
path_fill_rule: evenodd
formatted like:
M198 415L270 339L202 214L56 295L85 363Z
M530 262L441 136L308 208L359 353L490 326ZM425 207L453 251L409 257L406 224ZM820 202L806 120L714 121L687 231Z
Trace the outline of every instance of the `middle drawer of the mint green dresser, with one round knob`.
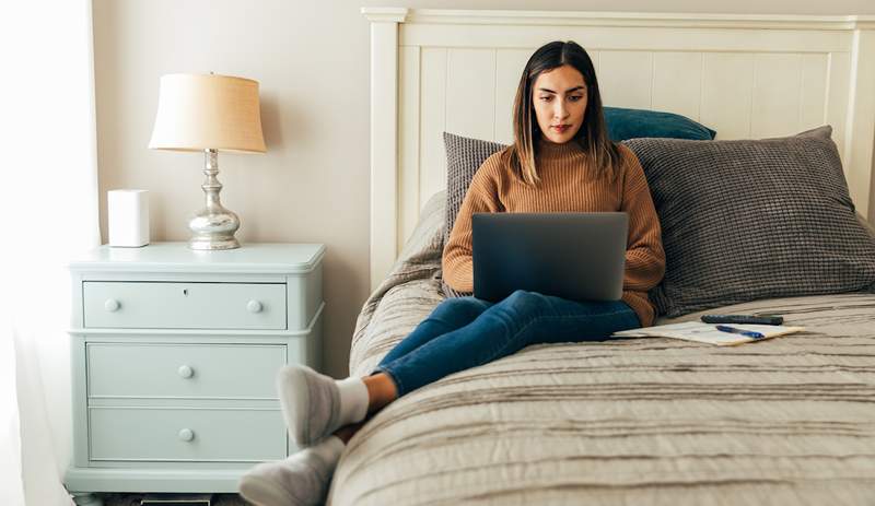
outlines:
M285 346L88 343L94 397L277 399Z

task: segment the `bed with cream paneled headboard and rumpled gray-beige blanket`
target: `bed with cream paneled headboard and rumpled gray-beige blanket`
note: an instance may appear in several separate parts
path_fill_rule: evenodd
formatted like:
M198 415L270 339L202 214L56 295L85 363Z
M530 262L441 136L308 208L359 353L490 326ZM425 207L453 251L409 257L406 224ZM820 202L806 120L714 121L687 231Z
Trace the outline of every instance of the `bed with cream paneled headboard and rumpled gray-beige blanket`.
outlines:
M445 296L438 134L508 142L495 110L510 110L511 69L549 39L594 48L603 82L644 68L646 89L605 92L607 105L677 110L726 138L838 126L851 196L871 220L871 19L363 11L373 292L357 321L352 375L369 374ZM649 64L620 64L630 61ZM678 66L699 72L678 77ZM726 90L714 75L738 68L754 74L734 84L746 109L710 104ZM491 78L477 79L483 69ZM454 92L448 77L459 74L493 99ZM682 92L690 85L693 103ZM492 120L481 123L485 110ZM350 440L328 503L875 504L875 294L758 299L656 325L703 313L779 314L807 330L734 348L661 338L528 346L377 413Z

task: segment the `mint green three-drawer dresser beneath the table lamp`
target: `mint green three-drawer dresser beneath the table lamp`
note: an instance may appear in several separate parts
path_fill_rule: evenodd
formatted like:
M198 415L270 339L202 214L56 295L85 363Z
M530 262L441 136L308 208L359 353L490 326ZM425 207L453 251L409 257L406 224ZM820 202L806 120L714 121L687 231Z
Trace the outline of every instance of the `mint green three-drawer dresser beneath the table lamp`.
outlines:
M319 244L101 246L70 263L73 461L97 492L235 492L296 448L275 377L322 365Z

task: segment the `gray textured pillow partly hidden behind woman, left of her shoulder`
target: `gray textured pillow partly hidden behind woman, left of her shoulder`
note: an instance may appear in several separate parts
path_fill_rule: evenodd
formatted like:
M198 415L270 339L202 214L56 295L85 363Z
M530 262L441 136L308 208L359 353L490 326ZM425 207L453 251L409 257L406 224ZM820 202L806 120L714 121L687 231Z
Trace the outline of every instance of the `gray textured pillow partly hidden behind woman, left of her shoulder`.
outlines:
M446 209L444 211L446 226L444 227L444 245L446 245L474 174L486 162L486 158L506 146L498 142L469 139L447 132L444 132L444 146L446 149ZM470 295L470 293L459 293L451 289L450 285L444 283L443 275L441 276L441 286L444 295L448 297Z

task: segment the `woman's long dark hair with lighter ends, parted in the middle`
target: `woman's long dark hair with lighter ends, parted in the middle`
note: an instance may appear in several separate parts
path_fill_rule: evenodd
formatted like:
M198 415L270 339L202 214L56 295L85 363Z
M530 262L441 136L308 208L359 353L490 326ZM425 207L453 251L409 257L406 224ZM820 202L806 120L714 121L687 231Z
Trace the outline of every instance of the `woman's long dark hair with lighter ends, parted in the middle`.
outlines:
M569 142L576 142L586 151L596 168L596 174L616 176L620 152L609 138L602 108L602 93L590 55L573 40L556 40L539 47L528 59L516 87L513 104L514 142L501 153L501 161L509 164L513 173L525 184L536 185L540 177L535 166L537 140L544 136L538 127L532 101L532 89L542 72L563 64L575 68L586 84L586 111L583 125Z

